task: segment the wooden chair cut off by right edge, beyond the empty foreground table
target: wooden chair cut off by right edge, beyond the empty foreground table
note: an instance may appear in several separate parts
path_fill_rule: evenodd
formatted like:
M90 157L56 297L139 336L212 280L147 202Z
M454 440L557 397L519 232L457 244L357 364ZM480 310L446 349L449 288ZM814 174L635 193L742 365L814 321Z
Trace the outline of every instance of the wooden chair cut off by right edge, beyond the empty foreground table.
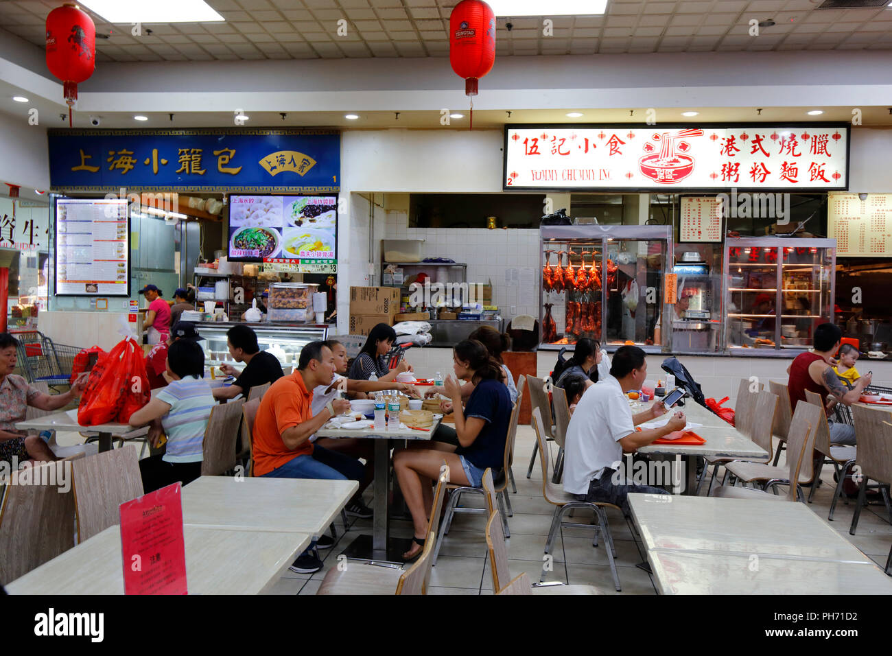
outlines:
M886 409L870 408L860 403L852 406L852 414L855 417L855 430L858 431L858 455L855 464L861 468L858 502L855 504L855 514L852 516L852 527L848 529L854 536L867 494L867 483L871 479L880 483L883 501L886 502L886 510L889 512L889 523L892 523L887 491L887 486L892 483L892 414ZM887 561L887 572L888 568Z

